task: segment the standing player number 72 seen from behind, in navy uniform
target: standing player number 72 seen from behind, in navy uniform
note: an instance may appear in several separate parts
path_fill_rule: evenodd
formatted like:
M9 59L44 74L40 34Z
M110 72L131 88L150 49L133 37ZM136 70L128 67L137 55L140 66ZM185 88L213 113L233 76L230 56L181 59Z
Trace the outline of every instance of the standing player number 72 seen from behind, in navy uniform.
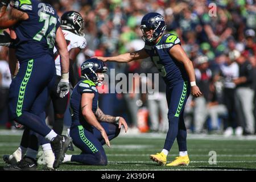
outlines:
M9 2L1 0L0 4L8 6ZM48 88L55 81L54 46L61 56L58 91L61 97L69 92L67 44L59 17L51 5L36 0L12 0L10 6L0 18L0 28L13 27L17 36L13 46L20 68L10 85L9 114L11 119L51 142L55 154L53 167L57 168L72 139L56 134L39 115L44 112ZM24 158L22 162L31 162L31 159Z

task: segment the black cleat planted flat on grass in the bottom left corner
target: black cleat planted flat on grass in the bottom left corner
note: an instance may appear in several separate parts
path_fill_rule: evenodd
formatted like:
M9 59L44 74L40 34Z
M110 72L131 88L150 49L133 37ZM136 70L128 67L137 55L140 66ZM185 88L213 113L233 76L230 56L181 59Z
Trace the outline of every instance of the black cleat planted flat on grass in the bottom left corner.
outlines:
M9 164L3 167L5 171L36 171L36 167L38 166L36 160L32 158L28 158L25 156L20 162L16 164Z

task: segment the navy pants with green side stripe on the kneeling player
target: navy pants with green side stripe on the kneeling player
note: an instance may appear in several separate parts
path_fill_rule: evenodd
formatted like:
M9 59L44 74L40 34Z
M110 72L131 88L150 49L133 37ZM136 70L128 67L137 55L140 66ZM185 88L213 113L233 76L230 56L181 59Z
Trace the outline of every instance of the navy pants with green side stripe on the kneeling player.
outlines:
M117 137L120 133L118 125L108 122L100 122L104 127L109 140ZM79 162L86 165L106 166L108 159L102 145L105 144L99 130L93 127L92 132L84 127L75 126L70 131L71 138L76 147L82 151L80 155L72 155L71 162Z

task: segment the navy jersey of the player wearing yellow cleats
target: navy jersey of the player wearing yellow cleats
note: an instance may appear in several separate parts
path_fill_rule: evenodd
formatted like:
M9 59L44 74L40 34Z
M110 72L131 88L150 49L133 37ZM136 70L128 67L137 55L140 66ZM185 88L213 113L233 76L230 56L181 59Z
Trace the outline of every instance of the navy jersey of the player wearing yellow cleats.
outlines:
M144 47L168 86L188 80L184 65L169 53L176 44L181 44L180 39L176 35L166 34L156 44L146 41Z

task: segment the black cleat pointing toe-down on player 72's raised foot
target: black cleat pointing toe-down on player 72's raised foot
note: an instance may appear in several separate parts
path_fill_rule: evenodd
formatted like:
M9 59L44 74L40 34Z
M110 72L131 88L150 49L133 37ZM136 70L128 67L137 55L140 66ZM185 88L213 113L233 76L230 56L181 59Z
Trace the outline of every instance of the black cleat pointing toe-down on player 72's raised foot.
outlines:
M65 152L68 150L69 144L72 142L70 137L57 135L51 142L52 151L55 155L53 168L58 168L63 162Z

